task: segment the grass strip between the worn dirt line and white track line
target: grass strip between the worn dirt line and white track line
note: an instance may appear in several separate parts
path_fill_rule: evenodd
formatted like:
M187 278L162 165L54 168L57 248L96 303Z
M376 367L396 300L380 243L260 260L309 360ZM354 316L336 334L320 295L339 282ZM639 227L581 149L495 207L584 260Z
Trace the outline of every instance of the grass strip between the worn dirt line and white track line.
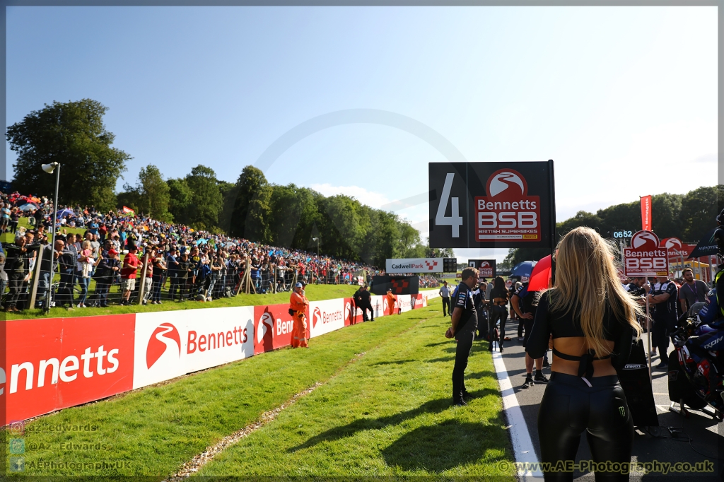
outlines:
M500 470L513 455L487 343L476 342L468 365L476 398L451 407L447 323L438 316L385 339L197 475L512 476Z

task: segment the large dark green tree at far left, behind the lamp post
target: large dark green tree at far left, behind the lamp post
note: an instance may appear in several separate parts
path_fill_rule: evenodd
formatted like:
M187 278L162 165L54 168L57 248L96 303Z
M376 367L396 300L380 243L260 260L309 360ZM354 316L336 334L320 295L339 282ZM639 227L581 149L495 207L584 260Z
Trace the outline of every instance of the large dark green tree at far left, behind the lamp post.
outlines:
M115 136L103 123L106 111L106 106L87 98L54 101L12 124L6 137L17 152L14 187L25 193L54 193L54 176L41 165L59 162L59 203L113 208L116 179L131 157L111 147Z

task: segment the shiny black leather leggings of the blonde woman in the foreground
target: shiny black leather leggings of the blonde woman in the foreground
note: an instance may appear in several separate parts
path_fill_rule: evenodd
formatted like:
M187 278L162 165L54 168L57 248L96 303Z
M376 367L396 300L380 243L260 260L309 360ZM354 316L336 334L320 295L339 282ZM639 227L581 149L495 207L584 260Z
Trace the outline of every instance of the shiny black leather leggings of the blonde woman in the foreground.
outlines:
M551 373L538 411L541 462L576 460L581 434L586 431L594 462L631 462L633 420L618 376L588 379ZM573 481L573 472L544 472L546 481ZM625 473L597 472L596 481L628 481Z

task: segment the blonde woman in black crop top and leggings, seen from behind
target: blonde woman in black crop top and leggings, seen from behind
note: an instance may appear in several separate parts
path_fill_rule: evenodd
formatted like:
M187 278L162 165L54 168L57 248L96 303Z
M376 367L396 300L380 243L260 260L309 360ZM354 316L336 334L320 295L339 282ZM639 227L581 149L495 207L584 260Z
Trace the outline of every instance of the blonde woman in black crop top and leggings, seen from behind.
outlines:
M641 334L641 308L618 281L614 257L615 248L587 227L558 245L555 287L541 297L526 344L531 358L540 358L552 335L552 374L538 413L542 462L573 463L584 431L595 462L631 462L633 420L616 368ZM596 479L628 481L628 467L622 471L597 472ZM573 480L573 472L544 476Z

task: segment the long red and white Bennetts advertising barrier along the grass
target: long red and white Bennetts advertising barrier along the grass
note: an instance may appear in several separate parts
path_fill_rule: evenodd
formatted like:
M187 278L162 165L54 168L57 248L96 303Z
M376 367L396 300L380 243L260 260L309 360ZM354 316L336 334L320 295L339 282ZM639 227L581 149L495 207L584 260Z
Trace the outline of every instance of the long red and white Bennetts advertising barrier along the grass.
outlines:
M398 295L403 312L437 292ZM373 296L375 318L387 313ZM291 344L289 305L2 321L0 426ZM395 310L397 312L397 310ZM351 298L313 301L308 337L360 323ZM9 369L8 369L9 367Z

